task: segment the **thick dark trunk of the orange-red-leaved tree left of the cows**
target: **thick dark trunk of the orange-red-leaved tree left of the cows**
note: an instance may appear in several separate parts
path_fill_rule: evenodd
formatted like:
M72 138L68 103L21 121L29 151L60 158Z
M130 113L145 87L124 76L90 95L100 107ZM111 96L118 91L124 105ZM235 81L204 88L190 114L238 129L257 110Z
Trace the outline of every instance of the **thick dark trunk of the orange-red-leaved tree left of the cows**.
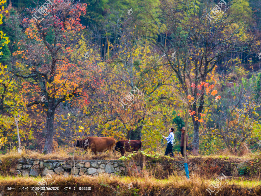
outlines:
M55 104L54 101L52 101L48 103L48 111L46 113L46 135L44 143L44 154L52 153L54 115Z

